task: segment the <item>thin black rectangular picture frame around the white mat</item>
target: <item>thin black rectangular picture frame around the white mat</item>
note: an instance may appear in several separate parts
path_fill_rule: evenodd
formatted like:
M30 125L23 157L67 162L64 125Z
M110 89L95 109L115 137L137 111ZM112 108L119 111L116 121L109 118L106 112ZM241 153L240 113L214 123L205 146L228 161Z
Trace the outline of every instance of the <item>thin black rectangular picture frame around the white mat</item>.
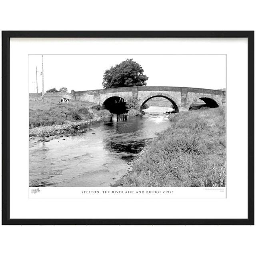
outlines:
M248 218L246 219L10 219L10 38L247 38ZM2 31L2 225L253 225L254 31Z

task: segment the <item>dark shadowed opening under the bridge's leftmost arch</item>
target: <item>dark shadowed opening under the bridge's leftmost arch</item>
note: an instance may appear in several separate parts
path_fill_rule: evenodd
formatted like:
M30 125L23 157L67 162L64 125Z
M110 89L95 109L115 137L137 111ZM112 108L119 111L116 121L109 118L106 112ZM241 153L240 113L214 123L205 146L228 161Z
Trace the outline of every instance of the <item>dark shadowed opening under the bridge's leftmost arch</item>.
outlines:
M103 104L102 109L107 109L113 114L124 114L126 113L125 100L118 96L112 96L107 98Z

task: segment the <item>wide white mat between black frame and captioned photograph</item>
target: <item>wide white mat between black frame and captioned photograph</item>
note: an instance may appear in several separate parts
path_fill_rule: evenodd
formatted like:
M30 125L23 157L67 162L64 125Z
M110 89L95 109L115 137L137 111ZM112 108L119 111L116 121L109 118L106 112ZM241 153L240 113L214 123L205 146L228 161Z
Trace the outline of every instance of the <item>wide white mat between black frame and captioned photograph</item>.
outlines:
M124 49L125 54L227 54L227 127L230 127L227 131L227 199L83 199L81 202L81 199L31 200L27 198L27 193L25 196L24 188L27 191L28 185L24 181L24 173L28 170L28 139L20 134L27 133L28 122L24 113L28 105L19 104L19 108L15 105L20 96L28 97L24 90L28 84L27 55L124 54ZM241 98L246 106L247 39L244 38L12 38L10 218L247 218L247 114L238 108L237 99ZM106 208L108 211L102 211Z

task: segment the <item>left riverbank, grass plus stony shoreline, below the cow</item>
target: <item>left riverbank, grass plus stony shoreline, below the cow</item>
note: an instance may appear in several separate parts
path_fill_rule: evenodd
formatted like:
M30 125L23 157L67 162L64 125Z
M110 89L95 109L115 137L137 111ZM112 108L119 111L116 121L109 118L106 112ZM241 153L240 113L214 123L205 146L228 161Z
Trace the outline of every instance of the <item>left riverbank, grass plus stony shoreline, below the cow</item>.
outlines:
M74 101L69 105L30 101L29 136L48 138L61 134L79 134L86 131L80 126L111 116L108 110L90 109L93 104L81 101Z

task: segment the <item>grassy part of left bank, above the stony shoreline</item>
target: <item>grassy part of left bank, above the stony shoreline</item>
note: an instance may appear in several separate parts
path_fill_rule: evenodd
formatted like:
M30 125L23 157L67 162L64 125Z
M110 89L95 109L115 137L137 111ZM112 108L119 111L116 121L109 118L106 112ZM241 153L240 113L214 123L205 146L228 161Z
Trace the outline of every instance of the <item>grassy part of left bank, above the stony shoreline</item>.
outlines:
M70 104L58 104L30 100L29 123L30 128L37 126L51 126L66 124L79 120L91 120L94 117L110 115L108 110L90 110L92 102L72 101Z

